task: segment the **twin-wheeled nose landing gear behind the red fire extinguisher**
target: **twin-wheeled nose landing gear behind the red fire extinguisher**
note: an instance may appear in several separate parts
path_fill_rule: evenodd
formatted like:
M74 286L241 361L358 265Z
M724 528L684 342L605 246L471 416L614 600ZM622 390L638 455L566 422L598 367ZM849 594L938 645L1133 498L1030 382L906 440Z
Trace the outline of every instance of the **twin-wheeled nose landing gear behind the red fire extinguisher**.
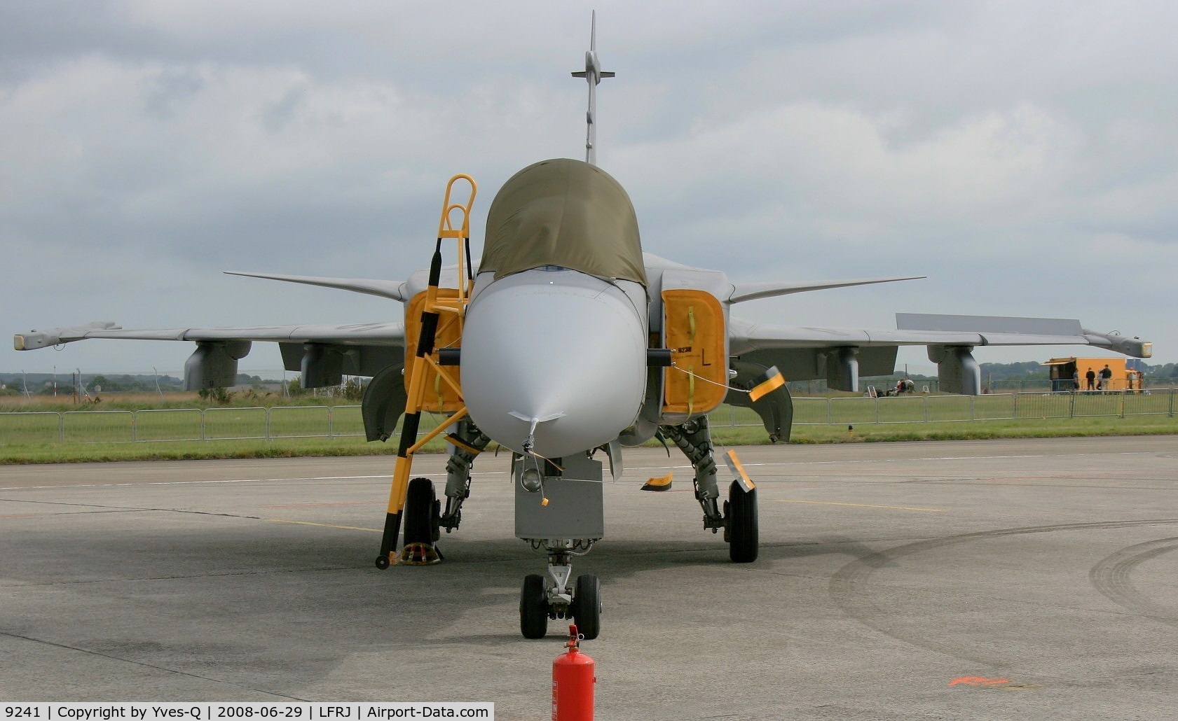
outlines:
M576 553L581 541L548 540L543 543L548 548L548 573L523 579L519 632L525 639L543 639L549 619L573 619L585 639L596 639L601 633L601 581L595 575L583 574L573 587L569 586L573 576L569 556Z

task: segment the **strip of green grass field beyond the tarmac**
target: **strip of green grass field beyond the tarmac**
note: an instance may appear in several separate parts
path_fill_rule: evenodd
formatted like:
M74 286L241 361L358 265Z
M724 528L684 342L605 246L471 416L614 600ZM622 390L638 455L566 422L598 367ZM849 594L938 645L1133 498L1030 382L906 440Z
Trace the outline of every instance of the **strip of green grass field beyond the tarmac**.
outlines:
M984 396L979 396L981 399ZM1107 396L1114 399L1114 396ZM938 416L959 418L969 399L946 396L945 403L933 403ZM974 401L979 400L974 399ZM823 399L799 399L800 401ZM838 415L830 425L795 425L792 443L858 443L913 440L969 440L992 438L1054 438L1091 435L1178 434L1178 419L1165 413L1117 415L1078 415L1074 418L1018 416L1001 420L945 420L940 422L906 420L924 418L918 409L921 399L886 399L905 401L876 407L859 399L854 403L830 403ZM867 400L867 399L865 399ZM1048 399L1051 403L1058 400ZM1098 400L1094 402L1113 402ZM990 400L984 403L1010 402ZM955 408L953 413L949 413ZM818 407L818 405L814 405ZM852 413L853 406L858 413ZM1030 407L1028 403L1025 406ZM798 409L806 408L805 402ZM901 415L900 409L904 409ZM1040 410L1046 406L1038 406ZM886 409L886 413L885 413ZM977 410L977 407L974 408ZM918 412L919 410L919 412ZM1047 410L1051 410L1047 408ZM826 413L826 410L823 410ZM954 415L955 414L955 415ZM803 421L802 413L796 414ZM380 443L363 438L363 422L356 407L274 407L210 408L204 414L196 408L128 409L107 412L24 413L21 426L5 426L0 414L0 463L55 463L85 461L184 460L225 458L290 458L307 455L378 455L396 454L396 436ZM201 418L204 427L201 428ZM838 419L836 421L834 419ZM59 420L60 419L60 420ZM891 420L896 419L896 420ZM756 425L727 425L727 423ZM814 421L809 421L813 423ZM834 425L834 423L838 425ZM713 414L713 438L716 445L742 446L767 443L768 438L756 415L747 409L722 407ZM423 428L431 427L423 423ZM327 429L336 435L324 438ZM259 430L260 429L260 430ZM61 432L64 441L47 441ZM203 434L203 435L201 435ZM132 442L132 436L135 439ZM205 440L200 440L204 438ZM80 442L78 439L87 439ZM180 440L178 440L180 439ZM230 440L232 439L232 440ZM434 441L423 453L441 452L442 441ZM390 460L391 462L391 460Z

